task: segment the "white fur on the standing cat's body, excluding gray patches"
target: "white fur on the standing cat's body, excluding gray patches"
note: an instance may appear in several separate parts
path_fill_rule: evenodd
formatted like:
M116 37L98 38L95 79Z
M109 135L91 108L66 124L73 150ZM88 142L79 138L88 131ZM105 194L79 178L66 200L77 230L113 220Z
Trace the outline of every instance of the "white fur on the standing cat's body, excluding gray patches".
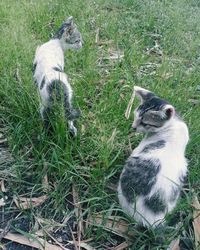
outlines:
M64 72L54 70L54 67L59 67L61 71L64 70L64 51L66 49L79 49L82 47L82 42L78 44L66 44L63 36L61 39L51 39L37 48L34 64L37 64L34 72L34 80L38 86L40 94L40 113L44 120L44 111L51 107L50 95L48 87L54 80L60 80L67 90L68 101L71 103L73 91L68 82L67 75ZM42 81L45 81L43 88L40 88ZM69 129L74 136L77 134L77 128L73 121L68 121Z

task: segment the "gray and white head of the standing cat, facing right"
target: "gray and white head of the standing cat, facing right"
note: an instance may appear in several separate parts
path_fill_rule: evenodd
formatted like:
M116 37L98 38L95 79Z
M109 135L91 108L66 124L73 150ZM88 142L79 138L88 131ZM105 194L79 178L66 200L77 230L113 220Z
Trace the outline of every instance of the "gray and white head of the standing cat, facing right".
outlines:
M59 39L64 49L80 49L83 45L81 33L78 31L72 16L62 24L53 38Z

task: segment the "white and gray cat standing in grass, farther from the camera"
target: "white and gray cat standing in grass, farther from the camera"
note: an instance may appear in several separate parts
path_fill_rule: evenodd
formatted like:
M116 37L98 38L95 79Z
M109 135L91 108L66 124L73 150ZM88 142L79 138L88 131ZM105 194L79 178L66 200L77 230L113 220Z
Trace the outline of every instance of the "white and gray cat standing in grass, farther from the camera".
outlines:
M37 47L33 62L33 77L38 87L41 107L40 112L45 127L49 127L49 113L52 110L53 90L64 93L65 117L69 130L76 136L77 129L74 120L80 116L80 111L73 108L73 91L64 73L64 51L82 47L82 36L78 31L73 17L69 17L52 39ZM60 94L60 93L59 93Z

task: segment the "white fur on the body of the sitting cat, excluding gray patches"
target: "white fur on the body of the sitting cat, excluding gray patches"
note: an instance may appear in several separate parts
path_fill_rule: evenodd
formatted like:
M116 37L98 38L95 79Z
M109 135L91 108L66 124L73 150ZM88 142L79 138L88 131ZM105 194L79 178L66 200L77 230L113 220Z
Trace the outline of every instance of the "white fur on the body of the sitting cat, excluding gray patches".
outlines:
M140 153L147 144L162 139L166 141L164 148L152 150L145 154ZM143 159L157 158L161 162L161 169L158 173L156 183L148 196L151 197L159 190L167 204L165 212L152 213L144 205L144 196L138 196L135 203L130 204L122 193L120 183L118 186L118 197L122 208L144 226L156 226L159 223L163 223L166 213L172 211L175 207L177 200L170 202L170 195L174 185L182 185L179 177L187 173L187 161L184 157L184 151L188 140L189 134L186 124L176 116L173 116L158 133L151 137L145 137L139 146L133 150L131 156L137 157L142 154Z

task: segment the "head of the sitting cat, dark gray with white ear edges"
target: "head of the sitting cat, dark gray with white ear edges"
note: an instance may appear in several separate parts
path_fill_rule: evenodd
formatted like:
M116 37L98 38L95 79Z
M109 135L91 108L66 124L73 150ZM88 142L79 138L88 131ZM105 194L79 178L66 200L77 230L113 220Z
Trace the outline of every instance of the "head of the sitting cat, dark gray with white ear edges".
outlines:
M175 108L146 89L135 86L134 90L141 103L134 111L132 128L137 132L151 133L168 126L175 116Z

